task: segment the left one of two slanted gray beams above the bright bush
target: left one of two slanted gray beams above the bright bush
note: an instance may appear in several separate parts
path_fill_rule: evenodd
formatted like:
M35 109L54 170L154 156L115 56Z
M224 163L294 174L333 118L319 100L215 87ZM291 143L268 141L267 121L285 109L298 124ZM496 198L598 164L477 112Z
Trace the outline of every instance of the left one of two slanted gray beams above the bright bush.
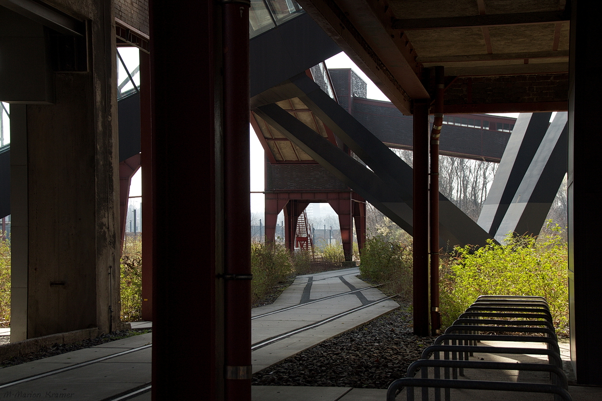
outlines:
M517 118L479 215L478 224L492 236L500 228L501 221L544 139L550 116L551 112L521 113Z

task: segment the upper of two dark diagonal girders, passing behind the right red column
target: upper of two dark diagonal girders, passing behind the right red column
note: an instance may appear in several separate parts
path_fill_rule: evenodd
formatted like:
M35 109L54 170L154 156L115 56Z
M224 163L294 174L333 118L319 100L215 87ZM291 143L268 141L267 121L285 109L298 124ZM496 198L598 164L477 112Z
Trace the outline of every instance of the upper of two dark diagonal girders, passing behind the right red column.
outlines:
M296 95L314 114L359 156L377 176L391 185L400 186L403 201L412 204L412 168L367 130L358 120L341 108L307 76L291 79ZM491 238L466 213L439 193L439 226L441 239L450 245L485 245Z

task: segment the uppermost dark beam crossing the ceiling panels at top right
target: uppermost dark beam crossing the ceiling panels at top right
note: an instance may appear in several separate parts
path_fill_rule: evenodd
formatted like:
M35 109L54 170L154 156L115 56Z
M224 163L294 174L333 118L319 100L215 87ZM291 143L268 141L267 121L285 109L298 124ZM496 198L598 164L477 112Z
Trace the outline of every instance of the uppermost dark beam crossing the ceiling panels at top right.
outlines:
M570 10L541 11L538 13L489 14L467 17L396 19L393 29L418 31L425 29L477 28L507 25L533 25L539 23L568 22Z

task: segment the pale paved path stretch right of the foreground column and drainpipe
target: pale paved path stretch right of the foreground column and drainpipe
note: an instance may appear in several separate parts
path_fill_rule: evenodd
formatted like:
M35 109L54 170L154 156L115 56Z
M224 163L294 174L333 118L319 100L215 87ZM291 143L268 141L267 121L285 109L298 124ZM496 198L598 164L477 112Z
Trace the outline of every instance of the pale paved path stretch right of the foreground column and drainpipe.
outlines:
M272 305L253 308L253 373L399 307L391 299L374 303L385 295L368 288L358 274L358 268L350 268L299 276ZM299 331L312 325L317 326ZM279 336L284 338L267 343Z

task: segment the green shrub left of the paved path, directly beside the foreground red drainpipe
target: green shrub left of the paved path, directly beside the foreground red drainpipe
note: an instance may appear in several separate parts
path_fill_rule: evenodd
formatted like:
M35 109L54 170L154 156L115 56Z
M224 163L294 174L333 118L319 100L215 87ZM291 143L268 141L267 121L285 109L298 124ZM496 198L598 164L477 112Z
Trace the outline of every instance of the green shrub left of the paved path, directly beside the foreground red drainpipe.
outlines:
M293 274L293 262L288 249L278 243L251 244L251 301L264 298L276 284Z

